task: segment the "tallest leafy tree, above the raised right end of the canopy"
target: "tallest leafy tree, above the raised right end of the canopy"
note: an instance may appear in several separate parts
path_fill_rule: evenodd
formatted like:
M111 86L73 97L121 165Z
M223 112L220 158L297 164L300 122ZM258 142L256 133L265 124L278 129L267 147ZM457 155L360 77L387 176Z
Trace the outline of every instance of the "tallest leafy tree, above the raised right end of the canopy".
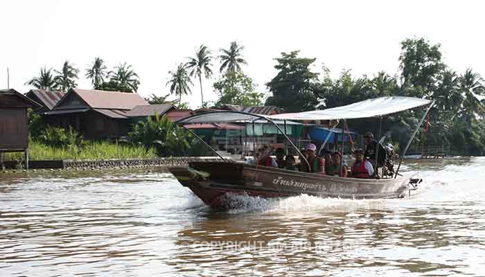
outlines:
M439 73L445 69L441 62L440 44L430 45L424 38L405 39L399 56L403 87L414 87L409 93L416 97L429 96Z

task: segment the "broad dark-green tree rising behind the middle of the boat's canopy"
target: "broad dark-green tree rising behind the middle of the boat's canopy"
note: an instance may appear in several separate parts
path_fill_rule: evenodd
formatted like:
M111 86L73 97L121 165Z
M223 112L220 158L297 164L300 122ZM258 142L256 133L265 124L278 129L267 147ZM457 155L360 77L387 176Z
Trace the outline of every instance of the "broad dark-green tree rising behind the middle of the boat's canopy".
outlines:
M318 73L310 71L315 58L298 57L299 51L281 53L276 58L276 76L267 83L272 96L266 105L275 105L286 111L308 111L315 109L317 95L321 93Z

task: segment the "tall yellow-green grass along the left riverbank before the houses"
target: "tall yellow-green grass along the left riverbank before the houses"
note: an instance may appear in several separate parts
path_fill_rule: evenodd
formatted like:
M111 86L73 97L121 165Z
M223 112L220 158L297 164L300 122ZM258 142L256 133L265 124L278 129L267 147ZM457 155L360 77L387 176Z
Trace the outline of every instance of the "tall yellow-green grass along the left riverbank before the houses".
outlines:
M107 141L88 141L82 146L68 145L57 148L29 140L28 152L31 161L157 158L154 148L147 149L143 145L116 145ZM23 161L24 153L6 153L5 158L6 161Z

